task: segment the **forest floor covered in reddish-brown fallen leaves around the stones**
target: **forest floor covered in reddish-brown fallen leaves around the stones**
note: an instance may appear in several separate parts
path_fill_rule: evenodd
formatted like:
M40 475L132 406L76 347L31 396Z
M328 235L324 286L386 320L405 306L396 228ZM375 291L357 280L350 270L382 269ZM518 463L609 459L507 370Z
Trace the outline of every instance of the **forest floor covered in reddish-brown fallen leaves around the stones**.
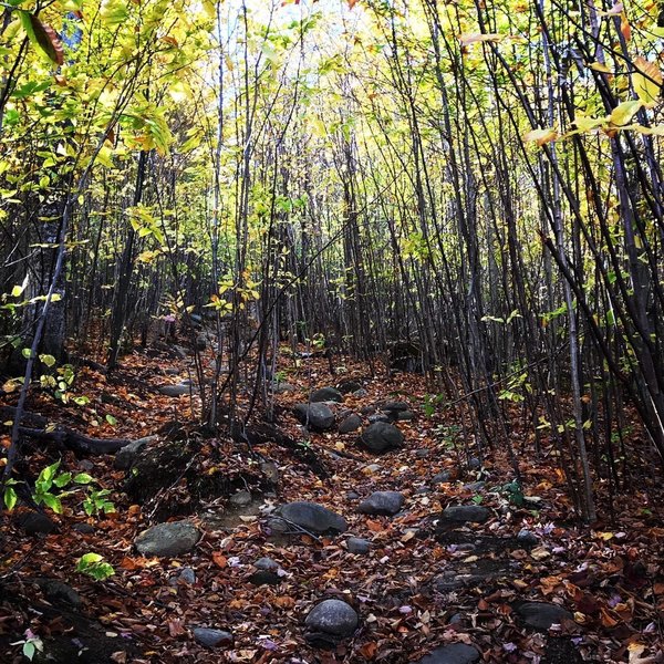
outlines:
M118 469L127 461L113 456L75 458L43 443L27 448L30 468L62 455L61 470L90 473L110 489L116 511L86 516L77 491L63 498L60 516L27 518L19 506L4 519L2 662L24 661L15 642L28 629L43 641L35 660L68 663L663 661L663 496L647 484L652 473L633 469L633 489L613 519L602 508L604 520L584 527L553 450L532 453L518 409L512 443L525 496L500 446L466 450L460 423L445 412L425 414L423 376L372 378L366 365L339 357L336 375L322 357L284 356L281 364L279 429L250 427L247 445L193 425L198 402L188 390L160 392L194 378L190 357L167 349L135 352L111 377L79 370L72 397L87 396L87 404L33 395L29 411L77 432L157 437L133 459L137 474ZM357 443L362 429L303 429L292 407L312 390L344 382L343 402L329 404L336 422L366 430L369 417L396 421L403 444L372 454ZM351 413L361 421L349 422ZM270 430L280 432L276 443ZM7 428L2 435L7 442ZM363 504L375 491L401 496ZM297 509L274 511L293 501L336 516L310 513L302 526ZM347 528L328 535L343 530L339 515ZM331 519L330 529L321 518ZM137 535L168 520L191 522L200 539L183 554L141 556ZM87 552L103 556L115 574L94 581L77 573ZM352 612L329 629L305 623L330 599L350 604L356 624ZM194 632L199 627L218 632ZM477 653L440 650L455 643Z

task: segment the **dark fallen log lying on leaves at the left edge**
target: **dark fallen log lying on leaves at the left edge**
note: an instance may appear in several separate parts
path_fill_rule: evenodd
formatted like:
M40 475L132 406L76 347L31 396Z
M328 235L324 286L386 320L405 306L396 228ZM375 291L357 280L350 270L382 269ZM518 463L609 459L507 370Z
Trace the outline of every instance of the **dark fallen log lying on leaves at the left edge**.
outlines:
M15 413L17 409L12 406L0 406L3 422L13 419ZM38 413L23 413L19 433L21 436L37 440L56 443L79 455L115 454L132 443L129 438L93 438L68 426L53 424L48 417Z

